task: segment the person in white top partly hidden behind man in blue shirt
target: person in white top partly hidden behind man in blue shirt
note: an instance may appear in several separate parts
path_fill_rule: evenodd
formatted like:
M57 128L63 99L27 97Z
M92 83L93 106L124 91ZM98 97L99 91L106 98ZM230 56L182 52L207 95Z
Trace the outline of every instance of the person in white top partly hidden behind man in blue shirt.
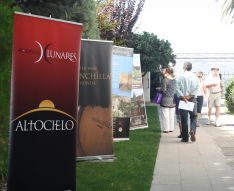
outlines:
M199 119L201 117L201 110L202 110L202 106L203 106L203 101L204 101L204 97L206 96L206 86L204 83L204 79L203 79L203 72L197 72L197 77L198 77L198 81L199 81L199 92L197 95L197 121L196 121L196 125L197 127L200 126L199 124Z

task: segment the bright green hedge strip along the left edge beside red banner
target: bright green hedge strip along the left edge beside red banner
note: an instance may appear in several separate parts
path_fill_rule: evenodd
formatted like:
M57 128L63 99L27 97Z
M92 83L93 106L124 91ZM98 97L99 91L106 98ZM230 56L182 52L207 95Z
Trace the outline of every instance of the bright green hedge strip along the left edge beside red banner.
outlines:
M13 0L0 1L0 187L7 175Z

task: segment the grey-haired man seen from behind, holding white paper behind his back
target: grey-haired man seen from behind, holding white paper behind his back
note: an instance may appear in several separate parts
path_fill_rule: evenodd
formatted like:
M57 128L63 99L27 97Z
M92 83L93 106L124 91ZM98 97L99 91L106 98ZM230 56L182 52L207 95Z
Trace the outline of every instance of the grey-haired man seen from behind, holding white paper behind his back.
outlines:
M182 126L182 142L189 141L189 134L191 141L196 141L196 117L197 117L197 95L199 91L199 82L197 76L191 72L192 63L185 62L184 73L178 77L176 83L176 92L180 101L193 102L194 108L192 111L187 109L179 109ZM188 115L190 116L190 132L188 134Z

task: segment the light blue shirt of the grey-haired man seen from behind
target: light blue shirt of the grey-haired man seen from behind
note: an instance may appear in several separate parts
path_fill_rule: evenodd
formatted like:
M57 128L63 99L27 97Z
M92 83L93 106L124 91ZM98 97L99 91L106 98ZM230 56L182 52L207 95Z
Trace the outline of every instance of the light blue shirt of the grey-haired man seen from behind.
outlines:
M178 97L195 96L199 92L199 81L191 71L185 71L179 76L176 82L176 93Z

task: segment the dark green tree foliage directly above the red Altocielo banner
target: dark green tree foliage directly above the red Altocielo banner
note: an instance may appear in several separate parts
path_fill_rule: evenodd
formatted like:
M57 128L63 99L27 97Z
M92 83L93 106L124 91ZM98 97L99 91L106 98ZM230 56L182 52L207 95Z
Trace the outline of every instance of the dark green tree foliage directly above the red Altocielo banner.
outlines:
M99 39L94 0L16 0L25 13L83 23L83 38Z

